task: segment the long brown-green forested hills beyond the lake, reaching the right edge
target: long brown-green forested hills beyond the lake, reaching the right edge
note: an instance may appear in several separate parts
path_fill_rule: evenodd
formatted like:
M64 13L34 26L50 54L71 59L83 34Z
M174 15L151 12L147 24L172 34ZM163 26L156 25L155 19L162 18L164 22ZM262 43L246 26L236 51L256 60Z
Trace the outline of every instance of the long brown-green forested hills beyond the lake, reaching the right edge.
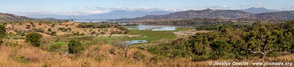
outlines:
M170 19L170 20L180 20L180 19L196 19L196 18L212 18L212 19L278 19L278 20L293 20L294 11L280 11L280 12L269 12L252 14L249 12L244 12L240 10L188 10L182 12L175 12L168 15L147 15L144 17L137 17L131 19L118 19L113 21L141 21L141 20L160 20L160 19Z

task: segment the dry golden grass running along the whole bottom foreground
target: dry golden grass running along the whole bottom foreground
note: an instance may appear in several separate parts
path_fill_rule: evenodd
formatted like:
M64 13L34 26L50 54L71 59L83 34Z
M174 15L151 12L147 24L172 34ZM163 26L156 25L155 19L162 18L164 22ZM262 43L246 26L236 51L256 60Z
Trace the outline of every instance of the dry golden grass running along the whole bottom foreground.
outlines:
M0 67L211 67L209 62L264 62L254 60L208 60L193 62L192 58L175 58L171 60L160 59L158 63L150 62L156 55L137 48L120 48L113 45L92 45L80 55L58 52L48 52L19 42L18 46L0 45ZM22 47L20 47L22 46ZM135 52L142 53L145 57L134 59ZM20 58L23 57L23 58ZM266 58L266 62L294 62L294 54ZM251 66L246 66L251 67Z

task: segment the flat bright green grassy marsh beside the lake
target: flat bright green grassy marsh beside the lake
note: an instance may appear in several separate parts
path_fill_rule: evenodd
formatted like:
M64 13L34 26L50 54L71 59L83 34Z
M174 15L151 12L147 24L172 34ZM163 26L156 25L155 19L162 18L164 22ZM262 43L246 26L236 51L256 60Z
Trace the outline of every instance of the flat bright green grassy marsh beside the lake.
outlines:
M175 39L177 36L173 34L175 31L185 31L188 29L194 29L189 27L181 27L177 28L177 30L173 31L152 31L152 30L129 30L129 33L126 35L142 35L148 37L127 37L127 36L58 36L52 38L50 41L51 45L61 45L62 47L67 47L67 43L70 40L79 40L83 45L89 46L94 44L111 44L118 43L124 41L132 41L132 40L146 40L147 43L158 41L161 39ZM124 35L124 34L121 34ZM142 44L142 43L141 43ZM140 44L135 44L140 45Z

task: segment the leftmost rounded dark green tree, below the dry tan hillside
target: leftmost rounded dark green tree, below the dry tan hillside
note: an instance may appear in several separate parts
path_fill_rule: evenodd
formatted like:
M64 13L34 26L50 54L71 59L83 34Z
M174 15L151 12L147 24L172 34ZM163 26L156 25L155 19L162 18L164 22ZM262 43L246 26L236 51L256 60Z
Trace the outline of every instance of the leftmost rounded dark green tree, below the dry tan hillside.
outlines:
M26 35L25 42L31 43L34 46L40 46L40 39L42 35L39 33L30 33Z

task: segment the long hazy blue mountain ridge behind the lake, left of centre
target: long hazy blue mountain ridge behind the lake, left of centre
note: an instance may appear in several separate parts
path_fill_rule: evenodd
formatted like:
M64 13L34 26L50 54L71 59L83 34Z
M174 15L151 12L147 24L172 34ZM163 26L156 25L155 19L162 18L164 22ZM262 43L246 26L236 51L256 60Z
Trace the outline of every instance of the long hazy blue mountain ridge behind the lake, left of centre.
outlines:
M121 19L121 18L135 18L143 17L145 15L165 15L170 14L167 11L124 11L114 10L105 14L87 15L87 16L62 16L62 15L28 15L30 18L56 18L56 19L79 19L79 20L109 20L109 19Z

